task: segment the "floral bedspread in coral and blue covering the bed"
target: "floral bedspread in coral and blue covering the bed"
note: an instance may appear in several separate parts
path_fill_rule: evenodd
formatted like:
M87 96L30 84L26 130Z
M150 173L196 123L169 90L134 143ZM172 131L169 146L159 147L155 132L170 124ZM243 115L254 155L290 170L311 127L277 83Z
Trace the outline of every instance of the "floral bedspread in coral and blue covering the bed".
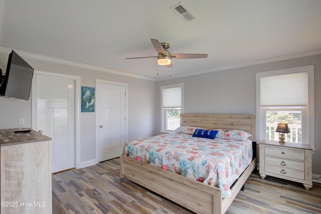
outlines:
M230 197L230 186L251 163L252 141L173 132L126 143L123 155L216 186Z

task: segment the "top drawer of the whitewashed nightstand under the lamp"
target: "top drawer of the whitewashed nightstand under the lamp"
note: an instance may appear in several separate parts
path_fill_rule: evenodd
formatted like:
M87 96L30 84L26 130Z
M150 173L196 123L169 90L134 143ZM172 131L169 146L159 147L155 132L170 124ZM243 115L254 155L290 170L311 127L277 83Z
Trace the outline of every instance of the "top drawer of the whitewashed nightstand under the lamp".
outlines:
M282 159L305 160L304 150L289 149L280 146L265 146L265 155L279 157Z

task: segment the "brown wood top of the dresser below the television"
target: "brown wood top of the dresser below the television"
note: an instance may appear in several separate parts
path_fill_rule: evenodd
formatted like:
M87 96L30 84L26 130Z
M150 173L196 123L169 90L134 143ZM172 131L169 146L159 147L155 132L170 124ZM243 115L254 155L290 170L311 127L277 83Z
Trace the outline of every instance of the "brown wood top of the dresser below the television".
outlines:
M15 133L15 131L31 130L30 132ZM22 143L31 143L51 140L50 137L43 135L31 128L0 129L0 145L9 146Z

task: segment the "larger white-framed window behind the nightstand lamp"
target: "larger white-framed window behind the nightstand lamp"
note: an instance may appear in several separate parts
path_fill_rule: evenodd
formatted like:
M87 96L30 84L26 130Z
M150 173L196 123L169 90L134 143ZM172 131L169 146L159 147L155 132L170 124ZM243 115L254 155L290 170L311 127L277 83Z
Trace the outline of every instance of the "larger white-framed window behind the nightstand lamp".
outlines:
M285 141L310 144L314 149L313 66L256 74L257 136L277 140L278 122L288 123Z

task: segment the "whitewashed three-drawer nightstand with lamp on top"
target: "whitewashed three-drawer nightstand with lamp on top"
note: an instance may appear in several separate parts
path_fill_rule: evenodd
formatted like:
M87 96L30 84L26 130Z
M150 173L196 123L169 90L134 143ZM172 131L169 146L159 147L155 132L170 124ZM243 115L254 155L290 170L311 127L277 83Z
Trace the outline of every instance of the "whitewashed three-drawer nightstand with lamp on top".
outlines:
M312 148L307 144L279 143L262 140L260 144L260 176L279 177L312 187Z

